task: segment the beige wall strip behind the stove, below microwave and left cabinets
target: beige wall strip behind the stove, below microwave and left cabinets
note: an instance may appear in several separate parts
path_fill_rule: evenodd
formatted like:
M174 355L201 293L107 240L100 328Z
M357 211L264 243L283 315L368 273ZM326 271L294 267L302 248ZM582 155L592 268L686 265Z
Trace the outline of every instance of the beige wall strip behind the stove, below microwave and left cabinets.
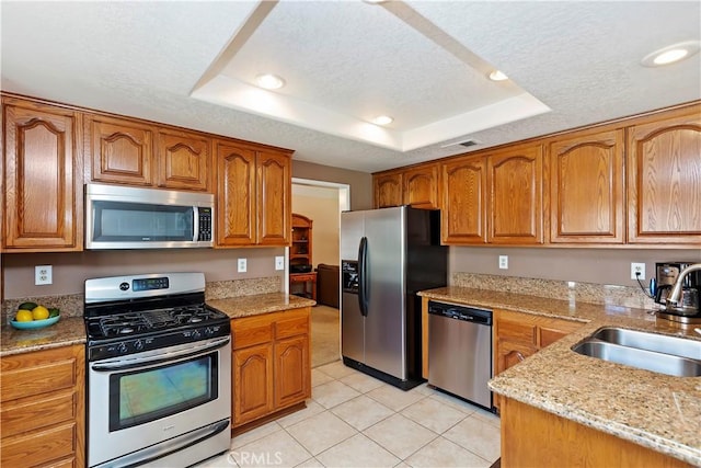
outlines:
M139 273L204 272L206 281L283 276L275 271L281 248L174 249L90 251L73 253L2 254L4 298L79 294L87 278ZM246 273L237 272L238 259L246 259ZM51 265L54 283L34 285L34 266Z

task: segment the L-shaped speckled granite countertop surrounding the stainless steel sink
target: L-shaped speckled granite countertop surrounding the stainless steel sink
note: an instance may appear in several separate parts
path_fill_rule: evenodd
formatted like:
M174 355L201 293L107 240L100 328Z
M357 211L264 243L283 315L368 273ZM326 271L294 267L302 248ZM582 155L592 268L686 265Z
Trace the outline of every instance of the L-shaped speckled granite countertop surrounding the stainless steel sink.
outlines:
M693 327L646 310L513 293L444 287L418 293L436 300L585 322L577 331L503 372L490 388L567 420L701 466L701 377L673 377L595 357L571 347L600 327L683 335Z

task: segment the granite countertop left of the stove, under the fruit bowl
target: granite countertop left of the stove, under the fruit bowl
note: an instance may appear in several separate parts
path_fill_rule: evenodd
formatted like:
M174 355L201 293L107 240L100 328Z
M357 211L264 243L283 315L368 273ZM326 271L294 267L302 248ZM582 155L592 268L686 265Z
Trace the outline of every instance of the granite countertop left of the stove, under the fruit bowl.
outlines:
M62 317L53 326L37 330L18 330L10 324L0 329L0 357L31 351L85 343L82 317Z

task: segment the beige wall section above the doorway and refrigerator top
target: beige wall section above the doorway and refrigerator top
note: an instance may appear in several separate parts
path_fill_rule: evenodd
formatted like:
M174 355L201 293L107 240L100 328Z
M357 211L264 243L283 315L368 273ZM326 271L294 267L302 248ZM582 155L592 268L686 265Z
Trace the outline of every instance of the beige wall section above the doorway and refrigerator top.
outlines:
M292 178L335 182L350 186L350 209L372 208L372 174L292 159Z

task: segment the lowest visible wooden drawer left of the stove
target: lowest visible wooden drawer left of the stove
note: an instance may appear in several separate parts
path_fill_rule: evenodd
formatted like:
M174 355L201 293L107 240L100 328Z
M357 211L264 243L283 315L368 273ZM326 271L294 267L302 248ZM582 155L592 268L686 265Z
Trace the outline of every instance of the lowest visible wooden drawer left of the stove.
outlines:
M2 440L0 465L30 467L68 458L76 452L76 423Z

